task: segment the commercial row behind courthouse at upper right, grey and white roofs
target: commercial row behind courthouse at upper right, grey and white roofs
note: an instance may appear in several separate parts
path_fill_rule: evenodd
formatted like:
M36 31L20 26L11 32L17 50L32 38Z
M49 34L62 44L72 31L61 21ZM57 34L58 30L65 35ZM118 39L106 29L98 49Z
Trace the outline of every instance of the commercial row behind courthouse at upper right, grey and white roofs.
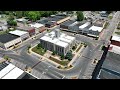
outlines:
M82 33L87 34L89 36L98 37L99 34L102 32L105 21L97 20L95 22L90 21L83 21L77 22L73 20L68 20L60 25L61 30L74 32L74 33Z

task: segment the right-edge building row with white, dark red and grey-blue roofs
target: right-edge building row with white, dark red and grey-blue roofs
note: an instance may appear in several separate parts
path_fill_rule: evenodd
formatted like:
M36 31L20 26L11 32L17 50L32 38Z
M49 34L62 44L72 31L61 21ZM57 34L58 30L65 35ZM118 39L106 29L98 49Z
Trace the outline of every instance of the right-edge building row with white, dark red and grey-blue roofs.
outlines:
M98 79L120 79L120 36L113 35Z

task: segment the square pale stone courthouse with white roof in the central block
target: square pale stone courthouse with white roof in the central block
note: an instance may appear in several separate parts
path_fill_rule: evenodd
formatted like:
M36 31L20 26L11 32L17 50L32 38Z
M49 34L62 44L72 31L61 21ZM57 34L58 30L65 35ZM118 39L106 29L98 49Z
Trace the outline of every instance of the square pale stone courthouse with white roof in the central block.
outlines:
M45 34L40 38L40 44L43 48L55 51L58 54L66 55L70 47L75 44L75 37L61 33L58 29Z

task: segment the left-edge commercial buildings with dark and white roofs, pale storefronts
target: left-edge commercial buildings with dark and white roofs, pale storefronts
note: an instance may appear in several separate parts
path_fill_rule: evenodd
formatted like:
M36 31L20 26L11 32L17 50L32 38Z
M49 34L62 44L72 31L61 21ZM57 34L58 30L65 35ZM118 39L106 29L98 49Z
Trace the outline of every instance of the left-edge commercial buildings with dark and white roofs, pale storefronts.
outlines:
M0 35L0 47L3 49L13 49L30 37L29 33L21 30L10 31Z

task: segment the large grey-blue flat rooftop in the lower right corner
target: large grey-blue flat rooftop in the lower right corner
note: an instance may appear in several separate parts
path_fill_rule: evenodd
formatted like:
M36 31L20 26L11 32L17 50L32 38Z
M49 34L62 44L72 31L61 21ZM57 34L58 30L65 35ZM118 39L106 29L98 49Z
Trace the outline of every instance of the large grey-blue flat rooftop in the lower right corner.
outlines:
M105 61L101 67L99 78L120 79L120 55L108 51Z

